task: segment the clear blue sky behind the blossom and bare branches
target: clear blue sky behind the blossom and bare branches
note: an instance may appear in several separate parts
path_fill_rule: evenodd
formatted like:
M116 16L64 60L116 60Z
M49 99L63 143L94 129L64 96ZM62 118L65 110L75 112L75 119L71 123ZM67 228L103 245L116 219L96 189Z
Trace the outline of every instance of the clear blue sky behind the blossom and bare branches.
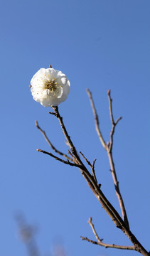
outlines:
M92 91L105 140L109 140L107 90L114 118L122 116L114 136L114 161L131 230L150 250L150 1L26 0L1 1L1 172L0 255L26 256L14 216L21 211L36 225L41 255L55 243L67 256L138 255L82 241L95 239L90 216L104 242L131 245L92 195L80 171L60 164L49 151L38 120L51 142L67 152L58 120L31 96L30 81L40 68L62 70L71 90L60 114L68 132L90 161L95 158L102 191L119 210L85 89Z

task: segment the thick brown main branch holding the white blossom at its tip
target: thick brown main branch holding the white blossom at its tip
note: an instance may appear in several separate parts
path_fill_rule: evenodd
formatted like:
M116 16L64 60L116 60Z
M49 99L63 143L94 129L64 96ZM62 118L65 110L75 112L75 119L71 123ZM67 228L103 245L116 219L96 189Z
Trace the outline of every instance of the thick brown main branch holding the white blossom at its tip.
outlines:
M85 180L87 181L88 186L90 186L92 192L97 197L97 200L101 203L102 208L104 208L106 210L107 214L112 219L112 221L117 226L117 228L120 228L122 230L122 232L125 235L127 235L129 240L131 240L131 242L134 245L134 249L133 250L136 250L136 251L140 252L144 256L150 256L149 252L147 252L144 249L144 247L136 239L134 234L129 230L129 227L124 222L124 220L122 220L122 218L120 217L120 215L117 212L117 210L107 200L107 198L105 197L104 193L102 193L102 190L100 189L99 184L96 183L95 178L93 178L93 176L87 170L85 165L82 163L82 161L80 159L80 156L77 154L77 150L75 149L75 146L74 146L72 140L70 139L70 136L68 135L67 129L65 128L65 125L63 123L63 117L60 117L60 114L58 112L58 107L52 107L52 108L53 108L53 110L55 112L55 117L57 117L59 122L60 122L60 126L62 127L63 133L65 135L65 139L67 139L67 142L68 142L68 144L70 146L70 151L71 151L70 154L74 156L75 164L70 163L69 161L64 161L63 159L59 159L57 156L54 156L53 154L50 154L50 153L48 153L46 151L41 151L41 149L38 149L38 151L41 151L41 152L43 152L45 154L49 154L50 156L52 156L53 158L57 159L58 161L63 162L64 164L70 164L72 166L77 166L80 169L82 176L84 176ZM106 146L107 146L107 149L108 149L109 144L107 144ZM94 164L93 164L93 166L94 166ZM102 240L101 240L101 242L102 242Z

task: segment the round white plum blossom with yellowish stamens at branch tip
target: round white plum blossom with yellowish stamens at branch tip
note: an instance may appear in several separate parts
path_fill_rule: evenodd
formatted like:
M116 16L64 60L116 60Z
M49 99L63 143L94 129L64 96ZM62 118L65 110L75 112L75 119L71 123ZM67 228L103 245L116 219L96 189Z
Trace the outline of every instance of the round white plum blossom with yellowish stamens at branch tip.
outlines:
M70 92L70 82L65 74L53 68L41 68L31 79L33 99L44 107L58 106Z

